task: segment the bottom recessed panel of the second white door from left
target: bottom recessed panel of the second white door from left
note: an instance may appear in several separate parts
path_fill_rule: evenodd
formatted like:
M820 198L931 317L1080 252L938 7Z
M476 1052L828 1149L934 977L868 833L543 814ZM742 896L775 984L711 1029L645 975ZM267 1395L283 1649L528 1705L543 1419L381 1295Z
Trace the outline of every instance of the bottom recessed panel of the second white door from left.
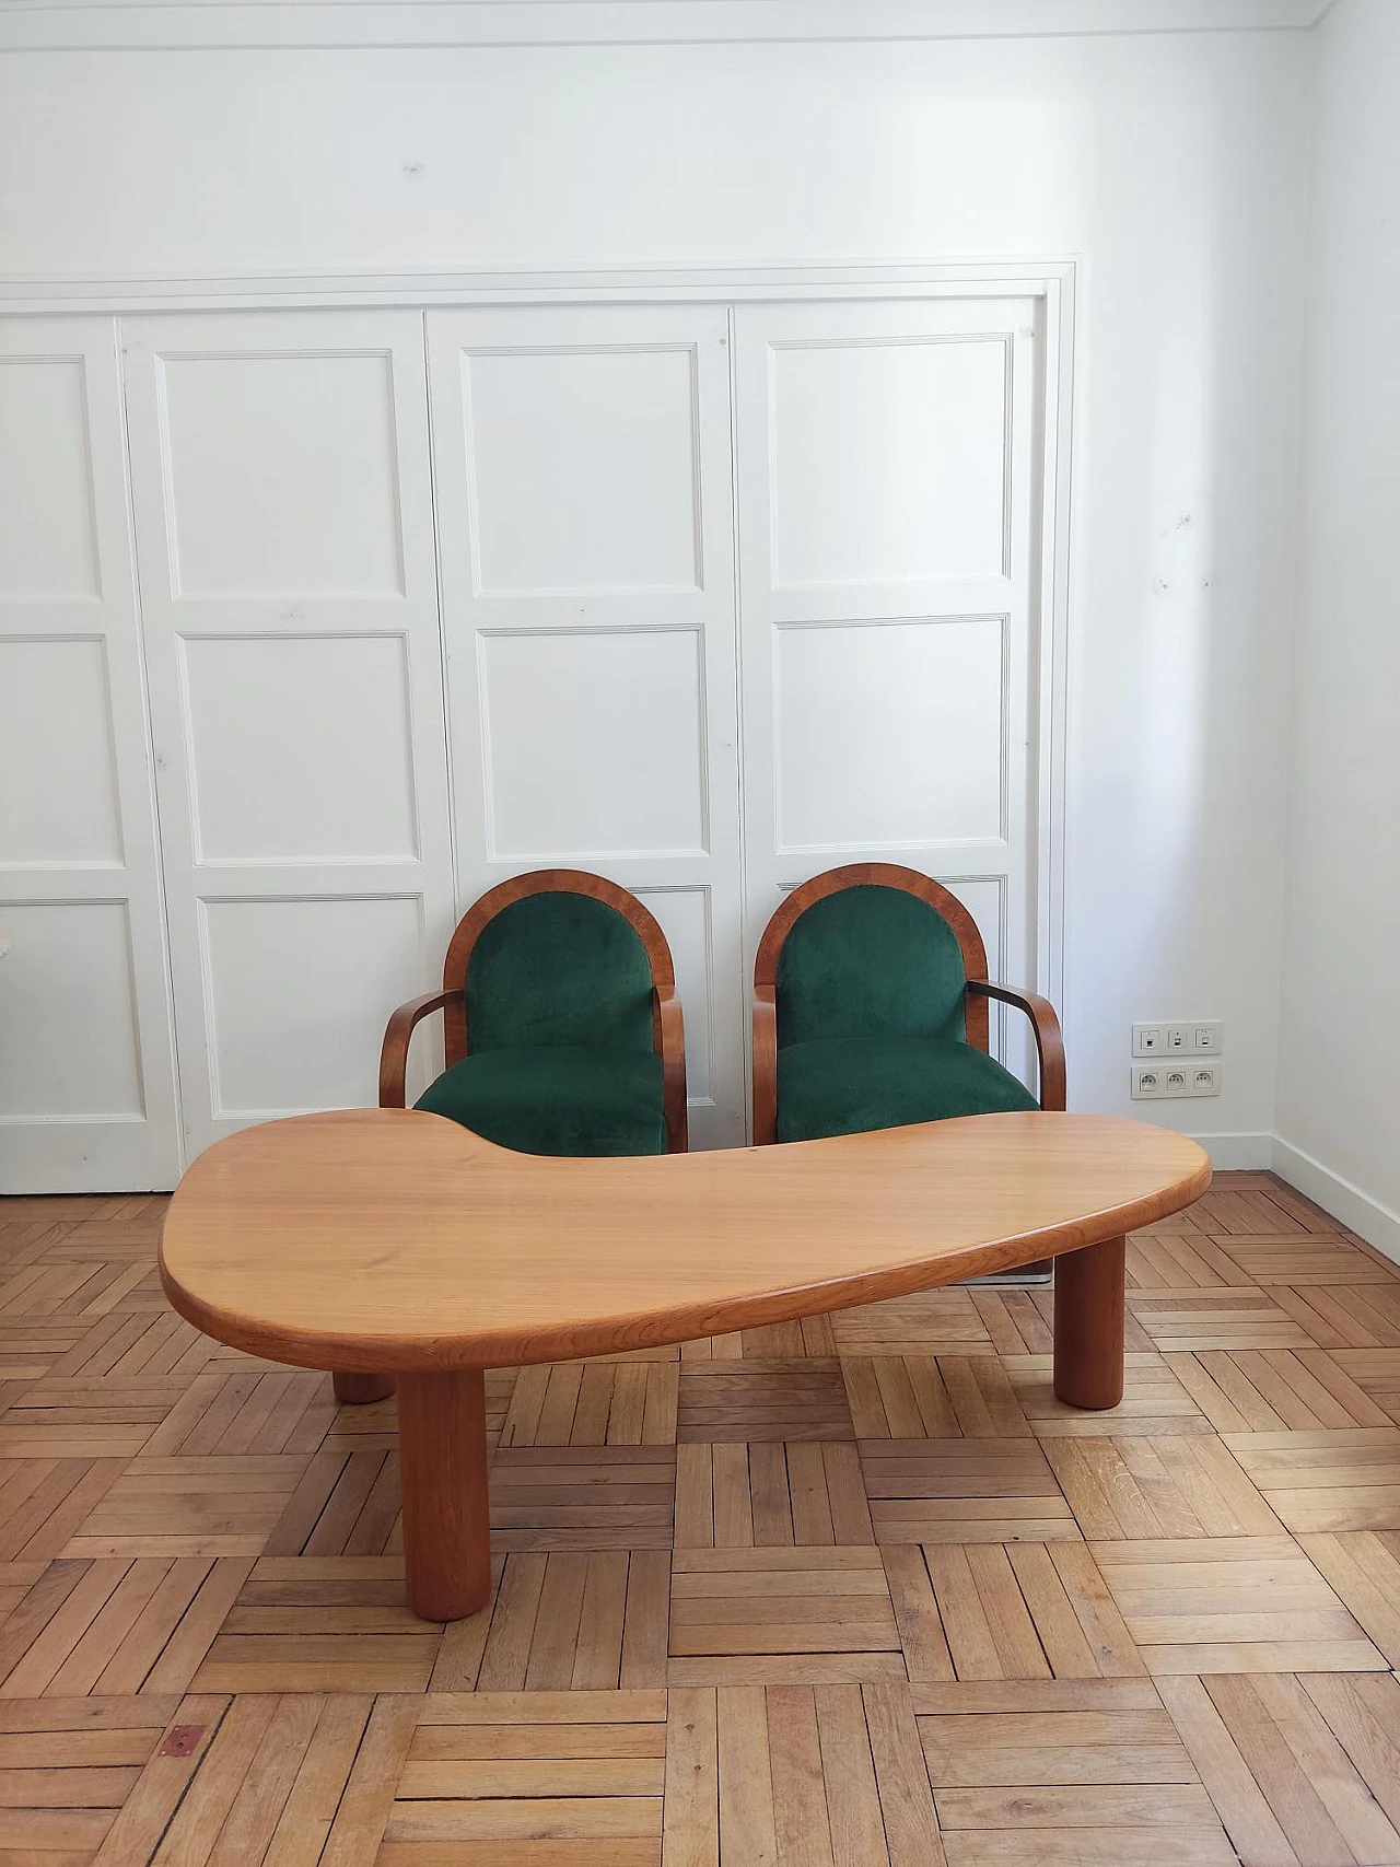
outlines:
M203 904L215 1118L370 1107L388 1014L420 988L416 898Z

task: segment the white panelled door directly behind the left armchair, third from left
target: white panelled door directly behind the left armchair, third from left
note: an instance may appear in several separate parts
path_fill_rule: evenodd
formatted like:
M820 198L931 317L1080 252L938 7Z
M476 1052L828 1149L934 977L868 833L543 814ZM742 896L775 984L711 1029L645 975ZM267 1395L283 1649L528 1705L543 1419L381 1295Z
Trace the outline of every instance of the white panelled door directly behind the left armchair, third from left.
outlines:
M676 956L691 1144L743 1139L721 306L429 312L461 905L633 889Z

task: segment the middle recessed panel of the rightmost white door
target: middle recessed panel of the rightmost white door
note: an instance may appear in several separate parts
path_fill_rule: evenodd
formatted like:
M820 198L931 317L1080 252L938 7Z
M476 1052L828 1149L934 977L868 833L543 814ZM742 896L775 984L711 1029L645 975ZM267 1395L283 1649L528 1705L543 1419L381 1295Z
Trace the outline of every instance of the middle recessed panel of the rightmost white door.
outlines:
M775 631L778 846L997 838L1004 624Z

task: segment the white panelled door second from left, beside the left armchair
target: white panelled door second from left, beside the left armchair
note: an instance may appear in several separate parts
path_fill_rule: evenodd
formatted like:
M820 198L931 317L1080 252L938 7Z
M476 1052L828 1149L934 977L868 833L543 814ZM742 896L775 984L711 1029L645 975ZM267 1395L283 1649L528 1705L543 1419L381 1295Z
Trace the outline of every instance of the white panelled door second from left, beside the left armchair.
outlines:
M123 323L187 1152L375 1100L452 932L422 319Z

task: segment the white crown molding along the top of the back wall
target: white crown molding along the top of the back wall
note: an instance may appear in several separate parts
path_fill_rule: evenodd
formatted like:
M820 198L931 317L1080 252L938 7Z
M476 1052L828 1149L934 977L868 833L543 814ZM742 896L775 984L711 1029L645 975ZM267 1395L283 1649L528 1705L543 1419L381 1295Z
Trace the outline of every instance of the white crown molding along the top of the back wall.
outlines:
M1305 32L1329 0L0 0L0 50L743 45Z

